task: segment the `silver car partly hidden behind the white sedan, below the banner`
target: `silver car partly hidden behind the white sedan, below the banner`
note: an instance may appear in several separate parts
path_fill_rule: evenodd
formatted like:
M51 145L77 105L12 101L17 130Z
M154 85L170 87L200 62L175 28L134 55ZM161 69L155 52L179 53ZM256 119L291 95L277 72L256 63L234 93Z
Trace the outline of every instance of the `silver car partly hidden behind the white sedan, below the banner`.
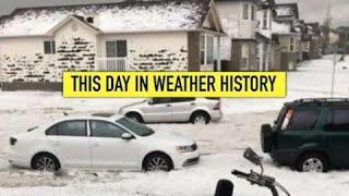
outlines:
M219 99L152 98L124 106L119 110L141 123L192 122L208 124L222 117Z

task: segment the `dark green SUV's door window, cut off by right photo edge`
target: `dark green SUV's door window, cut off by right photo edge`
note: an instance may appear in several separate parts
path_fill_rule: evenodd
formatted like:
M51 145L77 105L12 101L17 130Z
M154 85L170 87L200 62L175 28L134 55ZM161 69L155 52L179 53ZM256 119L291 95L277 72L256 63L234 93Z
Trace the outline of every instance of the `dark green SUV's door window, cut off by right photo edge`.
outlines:
M334 109L327 115L326 131L349 131L349 109Z

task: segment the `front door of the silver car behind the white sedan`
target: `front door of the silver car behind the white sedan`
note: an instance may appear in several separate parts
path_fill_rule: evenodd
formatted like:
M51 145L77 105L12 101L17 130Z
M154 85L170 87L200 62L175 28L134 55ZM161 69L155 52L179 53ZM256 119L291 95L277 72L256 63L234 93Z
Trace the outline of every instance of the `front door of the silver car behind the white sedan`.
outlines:
M172 121L172 99L154 98L142 109L145 122L170 122Z

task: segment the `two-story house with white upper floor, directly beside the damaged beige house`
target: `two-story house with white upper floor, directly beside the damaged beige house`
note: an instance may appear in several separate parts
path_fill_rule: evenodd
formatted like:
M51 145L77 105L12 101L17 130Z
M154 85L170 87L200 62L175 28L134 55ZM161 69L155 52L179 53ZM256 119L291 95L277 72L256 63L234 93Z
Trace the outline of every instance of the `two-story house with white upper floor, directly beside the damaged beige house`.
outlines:
M216 0L227 34L221 38L225 71L258 70L256 63L257 0Z

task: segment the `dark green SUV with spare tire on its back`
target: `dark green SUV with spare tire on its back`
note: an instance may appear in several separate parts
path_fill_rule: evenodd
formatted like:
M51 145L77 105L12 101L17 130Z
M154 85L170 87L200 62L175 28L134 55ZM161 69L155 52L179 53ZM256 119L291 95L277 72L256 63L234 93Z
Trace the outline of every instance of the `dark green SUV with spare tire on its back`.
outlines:
M349 99L285 103L274 125L262 125L262 149L304 172L349 167Z

